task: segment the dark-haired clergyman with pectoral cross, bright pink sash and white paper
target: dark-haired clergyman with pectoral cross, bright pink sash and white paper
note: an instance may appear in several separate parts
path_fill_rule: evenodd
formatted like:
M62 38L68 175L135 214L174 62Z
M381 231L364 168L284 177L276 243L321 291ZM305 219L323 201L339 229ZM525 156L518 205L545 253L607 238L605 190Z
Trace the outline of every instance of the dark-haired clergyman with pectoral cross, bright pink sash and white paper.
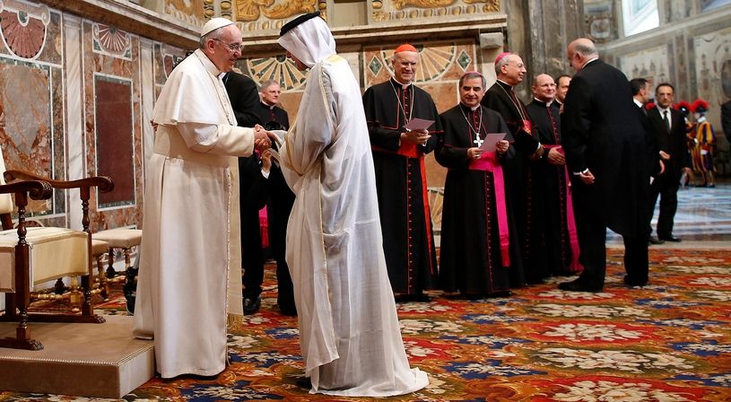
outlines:
M515 151L507 141L504 154L479 150L488 133L507 133L505 139L512 139L500 114L480 105L484 86L481 74L463 75L462 101L440 116L444 134L436 153L437 162L448 168L439 284L468 298L508 294L509 242L518 241L515 231L500 227L508 223L500 165Z

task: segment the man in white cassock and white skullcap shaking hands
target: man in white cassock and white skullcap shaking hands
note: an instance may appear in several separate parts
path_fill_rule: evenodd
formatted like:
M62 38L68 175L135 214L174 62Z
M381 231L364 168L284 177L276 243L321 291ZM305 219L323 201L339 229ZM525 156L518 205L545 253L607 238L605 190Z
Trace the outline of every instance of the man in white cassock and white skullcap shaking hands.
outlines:
M172 71L152 114L159 126L145 175L134 333L154 338L163 378L223 371L227 313L242 313L232 156L269 140L236 126L220 76L240 56L233 22L206 22L200 48Z

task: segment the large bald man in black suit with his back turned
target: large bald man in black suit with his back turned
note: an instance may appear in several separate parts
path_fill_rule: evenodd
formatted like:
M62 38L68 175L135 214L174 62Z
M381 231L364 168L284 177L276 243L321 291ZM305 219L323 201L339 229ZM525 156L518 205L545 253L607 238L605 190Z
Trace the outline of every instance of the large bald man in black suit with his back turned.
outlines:
M647 284L647 146L630 83L599 60L589 39L571 42L566 56L577 74L561 116L562 146L573 183L584 271L559 289L604 288L607 227L624 238L625 284Z

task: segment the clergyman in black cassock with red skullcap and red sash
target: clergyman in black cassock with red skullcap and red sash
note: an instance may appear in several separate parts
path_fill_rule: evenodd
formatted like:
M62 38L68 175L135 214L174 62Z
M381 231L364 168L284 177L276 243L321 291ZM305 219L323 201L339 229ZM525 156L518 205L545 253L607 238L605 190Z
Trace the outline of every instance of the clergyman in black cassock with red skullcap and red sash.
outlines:
M388 278L399 300L422 300L437 273L424 155L436 148L441 124L429 93L413 85L418 60L413 46L396 48L394 77L363 94ZM431 136L407 138L416 136L404 127L413 118L434 121Z

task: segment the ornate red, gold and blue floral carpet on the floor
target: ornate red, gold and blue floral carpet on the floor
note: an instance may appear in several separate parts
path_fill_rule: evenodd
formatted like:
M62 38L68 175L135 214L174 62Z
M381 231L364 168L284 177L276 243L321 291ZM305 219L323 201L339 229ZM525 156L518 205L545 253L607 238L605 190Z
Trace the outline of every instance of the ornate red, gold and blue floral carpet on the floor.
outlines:
M412 366L427 389L394 401L729 401L731 253L651 249L650 285L622 284L609 250L604 293L555 282L504 299L398 304ZM126 400L353 400L309 395L296 320L274 306L267 267L262 310L230 335L231 366L215 379L153 379ZM121 313L121 301L101 310ZM89 400L0 392L0 400ZM357 400L357 399L354 399ZM362 400L362 399L361 399Z

